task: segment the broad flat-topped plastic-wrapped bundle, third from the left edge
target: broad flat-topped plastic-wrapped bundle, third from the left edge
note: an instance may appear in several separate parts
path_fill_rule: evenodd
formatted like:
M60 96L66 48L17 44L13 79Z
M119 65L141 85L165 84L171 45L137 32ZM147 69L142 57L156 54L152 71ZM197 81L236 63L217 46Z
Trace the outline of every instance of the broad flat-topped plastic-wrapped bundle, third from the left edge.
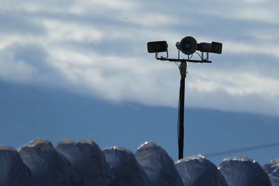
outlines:
M82 185L105 186L110 183L110 167L99 146L91 139L72 141L64 139L56 145L82 178Z

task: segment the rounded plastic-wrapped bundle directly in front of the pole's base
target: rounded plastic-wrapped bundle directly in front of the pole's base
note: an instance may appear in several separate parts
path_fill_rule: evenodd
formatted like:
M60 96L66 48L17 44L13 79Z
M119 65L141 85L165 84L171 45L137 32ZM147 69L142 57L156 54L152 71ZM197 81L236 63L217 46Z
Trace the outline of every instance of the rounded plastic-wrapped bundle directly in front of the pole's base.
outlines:
M184 185L226 186L225 178L218 168L202 155L185 157L175 162Z

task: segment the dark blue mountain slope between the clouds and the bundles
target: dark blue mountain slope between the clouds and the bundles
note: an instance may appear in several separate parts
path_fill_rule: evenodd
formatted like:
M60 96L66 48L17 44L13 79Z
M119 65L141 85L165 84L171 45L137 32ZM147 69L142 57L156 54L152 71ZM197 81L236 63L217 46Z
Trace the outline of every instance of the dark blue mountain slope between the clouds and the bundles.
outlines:
M0 143L15 148L41 137L93 139L100 146L135 150L154 141L177 160L177 109L131 102L107 102L39 85L0 81ZM278 142L279 117L187 107L185 156ZM278 148L243 152L260 164L276 159ZM268 152L268 153L266 153ZM211 157L216 165L223 157Z

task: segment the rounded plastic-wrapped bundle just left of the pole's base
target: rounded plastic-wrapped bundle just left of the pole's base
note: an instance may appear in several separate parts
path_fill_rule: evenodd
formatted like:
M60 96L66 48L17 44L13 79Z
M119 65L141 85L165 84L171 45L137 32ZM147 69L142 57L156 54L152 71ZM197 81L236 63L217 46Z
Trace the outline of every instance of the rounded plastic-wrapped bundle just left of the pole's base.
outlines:
M153 142L146 142L137 148L135 158L151 180L151 185L183 185L172 158L167 155L163 148Z

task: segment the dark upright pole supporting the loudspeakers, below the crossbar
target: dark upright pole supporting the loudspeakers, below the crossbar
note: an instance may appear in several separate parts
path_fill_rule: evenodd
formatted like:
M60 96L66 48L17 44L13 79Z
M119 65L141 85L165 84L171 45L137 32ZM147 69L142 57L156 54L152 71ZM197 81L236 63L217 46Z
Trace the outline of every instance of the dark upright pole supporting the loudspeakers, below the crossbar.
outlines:
M179 90L179 160L183 158L184 148L184 95L185 95L185 78L187 63L181 62L180 70L180 90Z

